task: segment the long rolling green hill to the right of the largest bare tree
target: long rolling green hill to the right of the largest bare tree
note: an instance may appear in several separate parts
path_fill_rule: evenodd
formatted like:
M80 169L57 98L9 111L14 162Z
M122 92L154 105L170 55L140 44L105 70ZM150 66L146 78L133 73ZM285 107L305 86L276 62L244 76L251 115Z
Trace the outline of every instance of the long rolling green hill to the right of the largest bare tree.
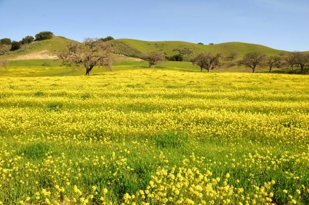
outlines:
M284 50L277 50L264 45L243 42L226 42L213 45L184 41L143 41L135 39L116 39L110 42L116 53L133 57L138 57L152 50L160 50L166 56L182 54L187 59L194 57L200 52L221 53L223 56L228 56L231 52L237 52L237 59L250 52L261 52L268 56L279 55L285 52Z

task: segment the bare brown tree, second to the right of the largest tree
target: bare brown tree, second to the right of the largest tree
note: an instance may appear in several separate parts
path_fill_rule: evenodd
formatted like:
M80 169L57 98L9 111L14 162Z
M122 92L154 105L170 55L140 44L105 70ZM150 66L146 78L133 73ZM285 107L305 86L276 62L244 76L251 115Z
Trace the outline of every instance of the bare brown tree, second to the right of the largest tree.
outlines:
M212 69L219 65L220 57L221 54L200 53L192 60L192 63L199 66L200 72L205 69L210 73Z

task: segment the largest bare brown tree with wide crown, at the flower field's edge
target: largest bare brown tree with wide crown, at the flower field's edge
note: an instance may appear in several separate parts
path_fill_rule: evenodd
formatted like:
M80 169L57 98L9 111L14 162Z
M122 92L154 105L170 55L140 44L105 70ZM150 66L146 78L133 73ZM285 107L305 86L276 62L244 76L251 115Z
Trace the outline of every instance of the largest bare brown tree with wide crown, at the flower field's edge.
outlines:
M65 63L84 66L89 75L94 66L112 68L113 49L110 44L97 39L86 38L83 43L72 42L58 55Z

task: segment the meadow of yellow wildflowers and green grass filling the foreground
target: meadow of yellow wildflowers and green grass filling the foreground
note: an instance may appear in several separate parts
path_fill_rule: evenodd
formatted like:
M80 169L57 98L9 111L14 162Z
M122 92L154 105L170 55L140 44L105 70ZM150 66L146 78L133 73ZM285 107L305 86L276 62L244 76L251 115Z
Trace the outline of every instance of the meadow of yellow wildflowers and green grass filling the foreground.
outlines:
M309 76L118 66L4 70L0 204L309 203Z

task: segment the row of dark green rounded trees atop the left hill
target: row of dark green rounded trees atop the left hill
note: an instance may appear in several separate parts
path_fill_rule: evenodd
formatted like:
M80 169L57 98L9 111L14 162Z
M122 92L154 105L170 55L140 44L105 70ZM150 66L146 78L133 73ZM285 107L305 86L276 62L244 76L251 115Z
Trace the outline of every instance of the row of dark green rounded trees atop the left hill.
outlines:
M50 31L42 31L35 34L35 38L33 36L26 36L22 38L20 41L11 40L10 38L2 38L0 39L0 55L4 55L5 53L14 50L18 50L22 48L23 45L27 45L31 42L50 39L54 36L53 32Z

